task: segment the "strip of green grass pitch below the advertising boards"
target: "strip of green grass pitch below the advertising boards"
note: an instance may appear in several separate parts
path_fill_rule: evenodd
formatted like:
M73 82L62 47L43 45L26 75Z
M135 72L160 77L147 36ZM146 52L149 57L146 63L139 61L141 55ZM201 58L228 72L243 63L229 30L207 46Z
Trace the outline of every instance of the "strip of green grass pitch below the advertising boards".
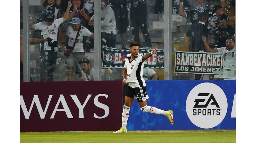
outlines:
M20 143L234 143L236 130L20 133Z

